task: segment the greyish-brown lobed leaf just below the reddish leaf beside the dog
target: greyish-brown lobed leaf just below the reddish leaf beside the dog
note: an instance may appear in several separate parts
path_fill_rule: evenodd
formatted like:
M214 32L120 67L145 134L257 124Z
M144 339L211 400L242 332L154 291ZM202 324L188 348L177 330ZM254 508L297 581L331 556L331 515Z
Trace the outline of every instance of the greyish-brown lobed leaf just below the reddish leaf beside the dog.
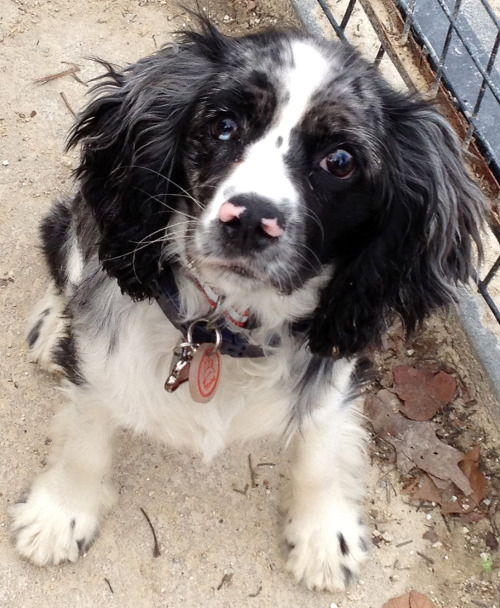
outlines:
M387 389L370 395L365 402L365 413L375 432L396 448L398 469L408 474L417 467L438 480L453 482L469 496L471 484L458 466L464 455L436 437L437 425L402 416L399 404L399 399Z

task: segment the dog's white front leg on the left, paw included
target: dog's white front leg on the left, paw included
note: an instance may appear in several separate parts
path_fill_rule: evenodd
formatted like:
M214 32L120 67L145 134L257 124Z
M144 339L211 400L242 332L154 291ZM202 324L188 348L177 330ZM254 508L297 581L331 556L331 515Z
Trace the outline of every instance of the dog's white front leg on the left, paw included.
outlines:
M83 395L56 417L48 469L12 509L21 555L45 566L76 561L89 547L114 502L111 439L105 408Z

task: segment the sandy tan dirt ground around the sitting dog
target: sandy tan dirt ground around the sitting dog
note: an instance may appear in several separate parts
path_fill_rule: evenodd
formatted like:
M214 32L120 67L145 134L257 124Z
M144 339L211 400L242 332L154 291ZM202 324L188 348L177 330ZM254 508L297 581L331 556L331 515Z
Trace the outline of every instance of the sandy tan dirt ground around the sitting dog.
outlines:
M285 0L206 6L228 33L297 25ZM279 502L288 460L279 444L264 441L233 447L206 468L188 454L123 433L116 458L120 501L89 554L77 564L40 569L14 552L8 508L43 468L50 420L62 402L55 379L26 358L26 318L46 280L35 235L51 200L72 188L75 157L62 150L85 83L98 72L87 58L133 62L186 24L187 13L166 0L1 2L0 606L382 608L415 589L439 607L500 608L494 542L500 540L500 405L453 317L432 319L409 344L392 336L369 390L390 386L396 363L431 362L456 377L460 390L438 422L443 439L461 451L480 446L485 499L468 518L443 517L431 503L411 501L401 493L408 479L392 448L374 438L366 500L374 543L348 593L314 593L284 572ZM75 65L74 75L34 82ZM141 508L158 537L159 557Z

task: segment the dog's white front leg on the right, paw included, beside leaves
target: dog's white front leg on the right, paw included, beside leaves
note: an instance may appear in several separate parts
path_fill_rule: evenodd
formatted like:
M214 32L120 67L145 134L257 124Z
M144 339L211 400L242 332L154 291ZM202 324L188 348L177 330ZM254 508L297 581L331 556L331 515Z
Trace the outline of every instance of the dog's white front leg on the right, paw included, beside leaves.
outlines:
M347 397L349 369L335 375L294 437L287 568L310 589L345 589L368 548L360 505L365 433Z

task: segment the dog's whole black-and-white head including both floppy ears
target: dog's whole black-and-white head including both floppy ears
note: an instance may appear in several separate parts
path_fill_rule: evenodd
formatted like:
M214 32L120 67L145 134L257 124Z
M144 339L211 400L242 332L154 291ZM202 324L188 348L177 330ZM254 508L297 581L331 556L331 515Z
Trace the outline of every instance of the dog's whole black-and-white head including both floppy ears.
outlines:
M223 292L289 295L321 275L310 347L344 356L394 313L413 329L453 300L483 200L442 116L345 45L202 29L108 66L70 139L122 290L150 297L166 260Z

